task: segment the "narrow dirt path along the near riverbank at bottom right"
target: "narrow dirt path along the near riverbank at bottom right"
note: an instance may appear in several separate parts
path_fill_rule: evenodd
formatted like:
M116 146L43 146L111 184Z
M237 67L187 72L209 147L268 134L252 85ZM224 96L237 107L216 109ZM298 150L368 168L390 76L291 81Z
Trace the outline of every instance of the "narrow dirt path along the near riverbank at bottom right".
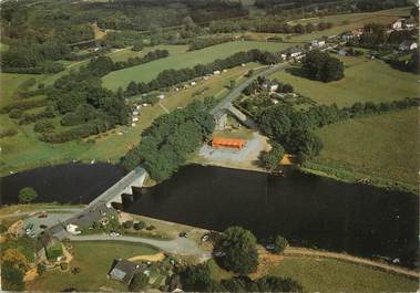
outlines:
M327 251L317 251L317 250L310 250L310 249L304 249L304 248L287 248L284 252L285 257L310 257L310 258L327 258L327 259L336 259L336 260L344 260L344 261L349 261L354 262L357 264L362 264L362 265L369 265L373 266L387 272L393 272L402 275L407 275L410 278L420 278L420 273L417 271L411 271L401 266L396 266L396 265L389 265L386 263L381 263L378 261L371 261L368 259L362 259L358 257L352 257L344 253L336 253L336 252L327 252Z

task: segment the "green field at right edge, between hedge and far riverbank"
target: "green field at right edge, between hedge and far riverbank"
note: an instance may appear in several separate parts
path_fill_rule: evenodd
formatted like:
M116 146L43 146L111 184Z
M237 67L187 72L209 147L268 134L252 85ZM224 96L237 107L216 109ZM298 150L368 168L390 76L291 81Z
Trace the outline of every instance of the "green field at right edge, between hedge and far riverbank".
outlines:
M315 169L356 179L379 178L418 186L419 111L392 112L349 119L317 130L324 142ZM346 176L347 174L347 176Z

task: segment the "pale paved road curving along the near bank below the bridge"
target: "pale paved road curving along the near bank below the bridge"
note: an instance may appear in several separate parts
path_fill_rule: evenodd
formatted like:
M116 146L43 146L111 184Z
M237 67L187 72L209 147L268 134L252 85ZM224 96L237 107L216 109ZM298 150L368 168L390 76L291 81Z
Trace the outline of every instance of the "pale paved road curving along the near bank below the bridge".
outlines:
M207 260L212 257L211 252L203 250L197 243L187 238L176 238L174 240L155 240L144 237L110 237L107 234L92 234L92 236L70 236L71 241L124 241L145 243L158 248L163 251L181 255L195 255L202 260Z

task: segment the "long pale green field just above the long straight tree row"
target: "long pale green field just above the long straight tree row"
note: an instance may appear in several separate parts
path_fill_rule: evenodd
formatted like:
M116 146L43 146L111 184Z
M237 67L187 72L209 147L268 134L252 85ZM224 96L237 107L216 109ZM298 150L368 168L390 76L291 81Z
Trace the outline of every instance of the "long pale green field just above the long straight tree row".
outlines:
M150 82L164 70L192 67L198 63L211 63L216 59L224 59L239 51L248 51L252 49L267 51L283 51L291 46L288 43L270 43L256 41L236 41L208 46L202 50L187 51L187 45L177 45L176 49L170 51L170 56L146 64L114 71L103 77L104 86L116 90L119 86L123 88L131 81Z

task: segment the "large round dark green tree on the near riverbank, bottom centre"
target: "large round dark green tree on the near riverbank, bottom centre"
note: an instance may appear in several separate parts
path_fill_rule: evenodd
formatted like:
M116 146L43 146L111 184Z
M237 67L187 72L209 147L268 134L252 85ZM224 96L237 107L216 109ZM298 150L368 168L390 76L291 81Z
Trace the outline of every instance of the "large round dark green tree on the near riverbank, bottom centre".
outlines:
M248 274L257 269L258 253L256 238L249 231L240 227L227 228L215 250L225 253L221 258L222 265L235 273Z

